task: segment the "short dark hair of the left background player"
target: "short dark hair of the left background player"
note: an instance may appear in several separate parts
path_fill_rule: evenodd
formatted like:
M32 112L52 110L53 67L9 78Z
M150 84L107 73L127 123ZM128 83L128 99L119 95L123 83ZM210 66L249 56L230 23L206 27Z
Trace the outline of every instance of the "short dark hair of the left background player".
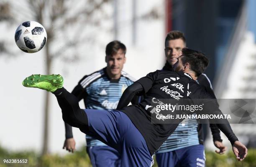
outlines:
M107 56L115 55L119 49L122 49L124 54L126 53L125 45L118 40L114 40L108 43L105 53Z

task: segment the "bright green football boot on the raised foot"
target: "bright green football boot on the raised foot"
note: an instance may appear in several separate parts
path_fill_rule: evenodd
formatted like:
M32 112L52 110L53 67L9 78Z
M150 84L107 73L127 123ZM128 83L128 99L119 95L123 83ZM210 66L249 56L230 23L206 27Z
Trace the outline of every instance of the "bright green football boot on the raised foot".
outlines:
M58 88L63 87L63 77L61 75L41 75L35 74L26 77L22 85L25 87L36 87L39 89L54 92Z

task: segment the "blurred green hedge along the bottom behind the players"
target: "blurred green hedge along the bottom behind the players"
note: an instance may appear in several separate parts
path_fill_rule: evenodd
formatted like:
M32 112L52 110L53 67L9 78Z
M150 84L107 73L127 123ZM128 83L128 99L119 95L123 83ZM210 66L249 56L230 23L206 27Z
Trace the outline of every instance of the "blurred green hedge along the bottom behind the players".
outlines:
M207 167L256 167L256 149L249 149L248 155L243 162L238 162L233 152L218 155L215 152L206 151ZM28 159L27 164L3 163L4 159ZM154 158L155 160L155 158ZM40 156L34 151L8 152L0 147L0 167L92 167L90 159L84 147L76 150L73 154L61 156L49 154ZM155 160L154 166L157 167Z

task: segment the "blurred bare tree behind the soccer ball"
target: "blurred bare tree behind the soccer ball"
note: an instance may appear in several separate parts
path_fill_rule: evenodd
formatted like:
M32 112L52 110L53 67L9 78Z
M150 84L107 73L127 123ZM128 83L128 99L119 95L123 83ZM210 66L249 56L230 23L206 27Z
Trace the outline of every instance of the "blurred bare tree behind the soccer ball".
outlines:
M44 25L47 32L47 43L44 46L46 73L51 74L51 66L54 60L57 58L61 58L61 60L66 62L78 60L81 54L76 47L83 45L84 41L87 41L87 45L90 42L94 42L92 40L93 33L88 33L87 27L100 28L102 20L109 18L108 13L104 10L105 5L107 5L109 1L110 0L6 1L0 3L0 22L20 23L19 20L21 19L19 19L19 17L23 17L22 20L35 20ZM83 24L87 26L83 26ZM79 33L72 33L74 31L69 31L70 29ZM60 41L60 39L63 40ZM6 41L0 41L0 52L8 53L5 43ZM44 101L44 142L42 155L48 153L49 103L49 93L46 92Z

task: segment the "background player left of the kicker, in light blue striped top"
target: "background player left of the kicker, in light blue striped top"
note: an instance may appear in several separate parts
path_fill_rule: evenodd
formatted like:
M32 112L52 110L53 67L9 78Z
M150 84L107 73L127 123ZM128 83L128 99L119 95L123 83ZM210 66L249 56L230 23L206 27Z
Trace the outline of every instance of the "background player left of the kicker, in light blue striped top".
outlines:
M120 41L112 41L106 46L105 62L107 67L90 75L85 75L72 91L78 100L84 100L85 108L108 110L116 109L123 91L131 85L134 79L123 72L126 47ZM136 98L132 103L136 103ZM65 123L66 140L63 148L69 152L75 150L75 140L72 127ZM86 135L87 153L93 167L119 167L118 151L105 145L99 140Z

